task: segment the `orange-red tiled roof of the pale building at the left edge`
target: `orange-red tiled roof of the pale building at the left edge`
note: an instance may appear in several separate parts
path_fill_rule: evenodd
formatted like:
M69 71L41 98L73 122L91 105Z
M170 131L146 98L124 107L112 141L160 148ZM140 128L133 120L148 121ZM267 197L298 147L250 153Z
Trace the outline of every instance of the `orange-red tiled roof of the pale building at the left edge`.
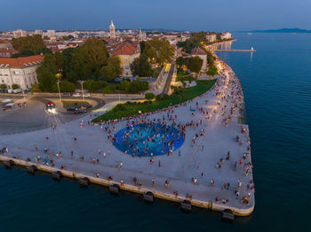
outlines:
M26 58L0 58L0 67L36 66L42 63L44 56L36 55Z

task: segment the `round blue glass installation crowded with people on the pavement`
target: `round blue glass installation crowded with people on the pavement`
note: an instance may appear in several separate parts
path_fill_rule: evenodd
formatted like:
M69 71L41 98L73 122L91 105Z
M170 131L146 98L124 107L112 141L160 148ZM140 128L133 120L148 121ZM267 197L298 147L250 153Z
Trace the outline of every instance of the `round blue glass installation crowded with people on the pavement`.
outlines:
M176 151L184 143L177 128L159 123L137 124L119 130L114 145L132 156L160 156Z

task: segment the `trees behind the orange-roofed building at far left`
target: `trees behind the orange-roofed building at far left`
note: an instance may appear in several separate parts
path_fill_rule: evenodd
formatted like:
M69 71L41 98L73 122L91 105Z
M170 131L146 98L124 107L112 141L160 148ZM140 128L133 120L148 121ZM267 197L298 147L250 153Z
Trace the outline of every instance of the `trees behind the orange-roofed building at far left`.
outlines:
M45 47L41 35L27 35L17 39L12 39L12 46L15 50L32 50L35 54Z

